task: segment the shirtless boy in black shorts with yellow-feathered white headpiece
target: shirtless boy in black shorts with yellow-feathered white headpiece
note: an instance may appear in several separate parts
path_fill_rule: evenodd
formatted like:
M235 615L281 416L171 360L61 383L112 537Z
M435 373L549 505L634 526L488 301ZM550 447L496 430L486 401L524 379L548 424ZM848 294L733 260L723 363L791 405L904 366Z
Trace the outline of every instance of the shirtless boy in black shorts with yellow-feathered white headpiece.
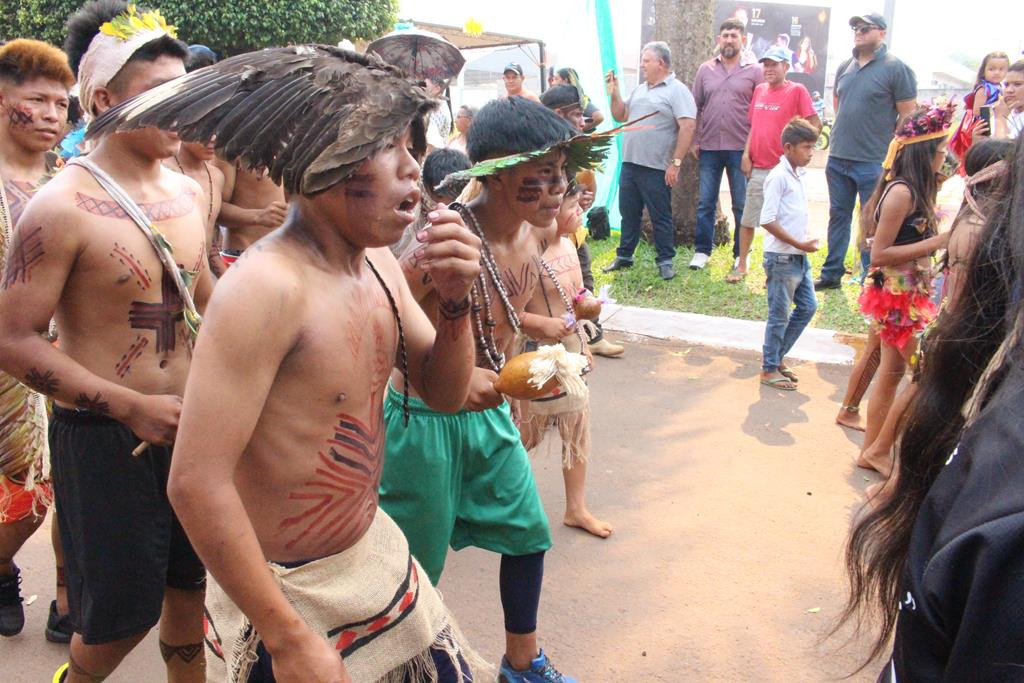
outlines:
M184 73L186 47L168 28L100 33L119 11L127 23L127 5L111 2L69 20L89 116ZM176 136L145 129L102 138L88 160L173 245L202 307L211 286L202 190L161 164L177 148ZM54 399L50 456L75 628L60 680L109 676L158 621L168 680L204 678L205 571L165 489L191 357L182 310L150 241L85 168L69 165L29 203L0 289L0 367ZM43 337L51 318L59 349ZM133 457L140 440L153 445Z

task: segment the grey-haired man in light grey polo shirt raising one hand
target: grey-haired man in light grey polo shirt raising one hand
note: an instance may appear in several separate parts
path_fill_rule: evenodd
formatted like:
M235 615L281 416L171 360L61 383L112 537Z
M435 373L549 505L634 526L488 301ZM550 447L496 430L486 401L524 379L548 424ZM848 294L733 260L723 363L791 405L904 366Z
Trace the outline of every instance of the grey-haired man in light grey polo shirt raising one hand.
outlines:
M672 225L672 188L679 179L683 155L690 148L696 127L697 106L690 89L672 73L672 52L663 42L644 46L640 59L644 82L623 100L614 73L605 82L615 121L654 116L644 128L623 136L623 167L618 176L618 210L623 215L622 234L615 260L605 272L633 265L633 252L640 242L640 219L647 207L654 226L655 263L663 280L676 276L672 259L676 255Z

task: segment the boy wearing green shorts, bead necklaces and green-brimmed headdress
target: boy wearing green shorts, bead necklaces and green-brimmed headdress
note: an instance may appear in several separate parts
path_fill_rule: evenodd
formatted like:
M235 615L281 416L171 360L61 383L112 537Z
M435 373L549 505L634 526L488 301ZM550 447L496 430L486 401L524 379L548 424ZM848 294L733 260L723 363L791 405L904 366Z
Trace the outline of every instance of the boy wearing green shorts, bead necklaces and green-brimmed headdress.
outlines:
M565 335L564 322L523 309L538 283L540 255L555 237L566 170L577 170L566 169L568 155L557 145L574 132L556 114L522 97L492 101L474 118L467 152L476 166L466 174L477 180L463 197L476 194L465 205L452 205L483 243L481 273L470 297L476 369L469 398L462 411L441 414L411 395L407 425L400 393L406 387L392 375L384 409L387 458L380 504L404 531L430 580L440 579L450 545L502 555L506 650L499 680L507 683L574 683L538 647L537 612L551 531L509 404L493 386L520 333ZM480 163L509 155L522 158L501 169ZM417 239L425 240L429 229ZM428 314L459 313L435 304L432 276L443 257L426 260L422 245L414 243L399 260Z

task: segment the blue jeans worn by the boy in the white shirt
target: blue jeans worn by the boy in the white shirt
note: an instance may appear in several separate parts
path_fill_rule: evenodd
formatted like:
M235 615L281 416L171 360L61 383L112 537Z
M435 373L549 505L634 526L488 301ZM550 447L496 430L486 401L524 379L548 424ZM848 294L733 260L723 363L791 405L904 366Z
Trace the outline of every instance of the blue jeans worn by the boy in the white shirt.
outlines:
M767 373L777 370L797 343L814 317L818 300L811 282L811 262L806 256L765 252L764 266L768 279L768 322L761 369Z

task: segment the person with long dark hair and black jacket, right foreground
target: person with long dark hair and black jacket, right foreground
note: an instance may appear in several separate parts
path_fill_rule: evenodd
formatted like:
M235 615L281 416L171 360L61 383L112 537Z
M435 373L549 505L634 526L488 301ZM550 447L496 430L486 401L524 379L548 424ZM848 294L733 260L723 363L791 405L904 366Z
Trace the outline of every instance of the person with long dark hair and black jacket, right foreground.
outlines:
M895 494L847 548L840 624L880 617L871 658L895 633L880 681L1024 680L1024 142L1008 163L929 338Z

